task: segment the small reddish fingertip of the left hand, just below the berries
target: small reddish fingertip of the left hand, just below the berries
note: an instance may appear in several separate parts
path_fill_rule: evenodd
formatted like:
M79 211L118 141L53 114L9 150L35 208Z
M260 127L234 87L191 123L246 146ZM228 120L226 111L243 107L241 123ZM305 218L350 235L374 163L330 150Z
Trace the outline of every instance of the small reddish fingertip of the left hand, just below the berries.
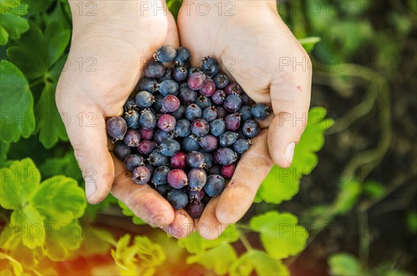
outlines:
M170 225L163 227L163 230L177 239L186 238L193 234L195 225L191 218L183 209L174 211L174 221Z

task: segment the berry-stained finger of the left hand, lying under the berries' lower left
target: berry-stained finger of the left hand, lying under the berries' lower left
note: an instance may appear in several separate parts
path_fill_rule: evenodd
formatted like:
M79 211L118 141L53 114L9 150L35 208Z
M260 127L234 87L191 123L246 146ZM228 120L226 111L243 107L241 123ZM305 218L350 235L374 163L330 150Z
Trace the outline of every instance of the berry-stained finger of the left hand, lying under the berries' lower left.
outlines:
M113 157L113 162L116 172L111 188L113 196L124 202L145 223L161 228L170 225L174 221L174 209L170 203L149 185L135 184L131 172L124 169L120 160Z

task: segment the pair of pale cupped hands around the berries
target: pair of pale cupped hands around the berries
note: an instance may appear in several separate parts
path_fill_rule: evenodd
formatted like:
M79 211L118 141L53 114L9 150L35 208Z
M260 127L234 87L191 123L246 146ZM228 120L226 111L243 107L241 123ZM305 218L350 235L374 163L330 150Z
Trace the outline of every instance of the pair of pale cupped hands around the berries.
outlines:
M101 202L111 192L143 221L173 236L188 236L197 229L204 238L215 239L247 212L274 164L291 165L310 103L308 55L281 21L275 1L236 1L232 16L219 14L218 6L211 6L213 12L203 16L195 6L198 1L184 1L188 10L180 12L177 26L169 12L144 11L141 1L96 1L93 17L80 16L76 3L70 1L74 28L69 60L95 57L96 71L80 71L78 66L64 71L56 103L71 118L97 114L95 126L80 125L75 119L67 125L85 176L88 202ZM161 1L158 7L162 6ZM196 221L184 210L172 209L148 185L134 184L122 162L109 153L105 127L106 118L122 114L124 102L142 76L144 58L161 44L178 47L179 41L190 49L196 58L193 62L206 55L218 58L222 69L254 101L268 103L273 110L261 124L254 146L240 159L229 186Z

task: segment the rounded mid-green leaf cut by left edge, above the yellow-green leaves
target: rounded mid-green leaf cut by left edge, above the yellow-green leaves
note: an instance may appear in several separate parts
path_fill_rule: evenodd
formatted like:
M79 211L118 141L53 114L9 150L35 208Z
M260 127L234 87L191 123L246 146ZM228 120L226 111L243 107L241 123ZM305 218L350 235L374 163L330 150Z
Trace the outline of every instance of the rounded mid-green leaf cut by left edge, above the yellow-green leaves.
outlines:
M28 81L14 64L0 62L0 139L6 143L28 137L35 130L33 97Z

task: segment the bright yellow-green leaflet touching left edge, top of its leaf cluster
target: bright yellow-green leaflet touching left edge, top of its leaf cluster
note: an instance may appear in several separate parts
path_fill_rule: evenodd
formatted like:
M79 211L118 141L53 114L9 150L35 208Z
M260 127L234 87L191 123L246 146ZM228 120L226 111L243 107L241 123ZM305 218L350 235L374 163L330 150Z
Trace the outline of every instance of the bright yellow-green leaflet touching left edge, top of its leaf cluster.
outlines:
M0 169L0 205L4 209L21 209L38 187L40 172L29 158Z

